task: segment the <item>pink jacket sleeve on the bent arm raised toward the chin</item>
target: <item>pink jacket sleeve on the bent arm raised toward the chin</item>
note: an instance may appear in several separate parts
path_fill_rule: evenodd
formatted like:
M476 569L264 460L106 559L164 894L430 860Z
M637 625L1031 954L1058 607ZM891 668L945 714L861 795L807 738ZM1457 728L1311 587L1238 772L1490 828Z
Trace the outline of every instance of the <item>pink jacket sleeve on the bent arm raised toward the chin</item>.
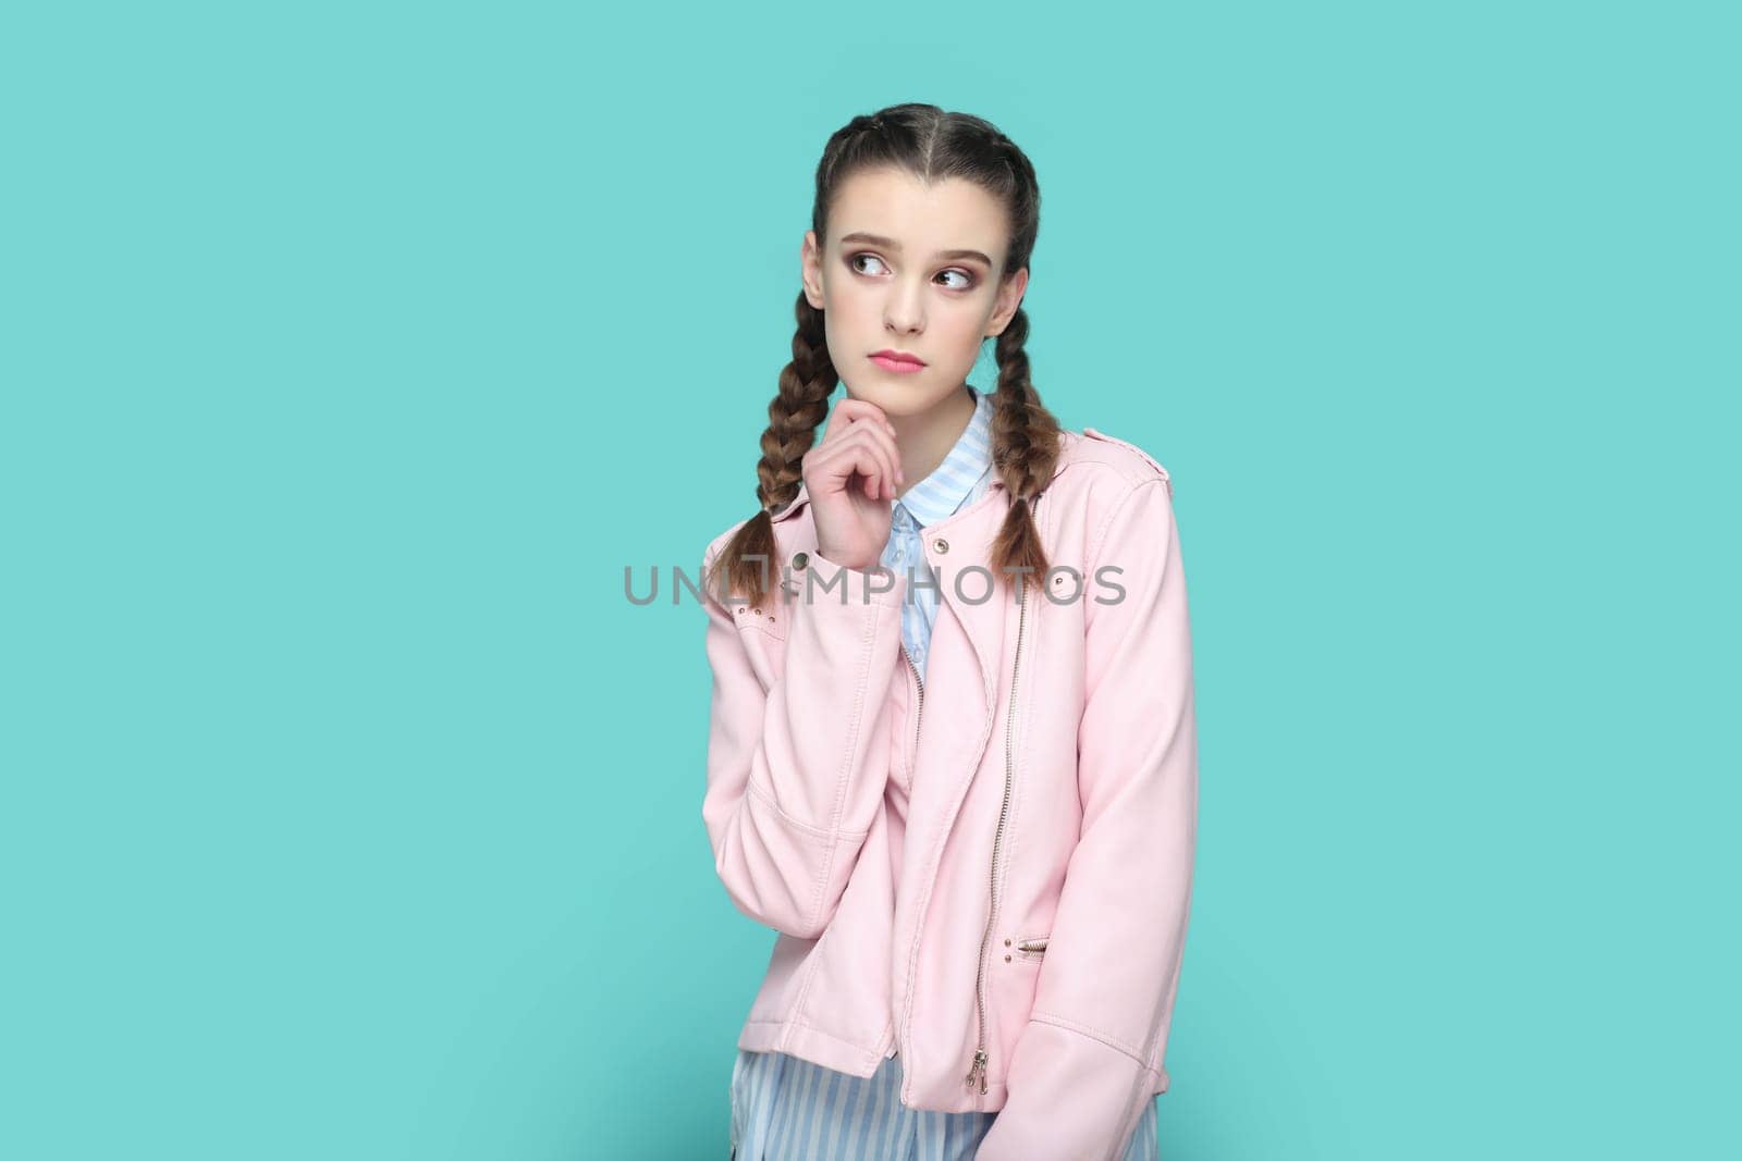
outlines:
M704 578L714 555L704 554ZM807 555L784 606L784 672L766 684L740 637L760 630L740 630L704 585L712 707L702 820L737 909L819 938L883 806L883 714L906 578ZM768 599L782 599L779 587Z

